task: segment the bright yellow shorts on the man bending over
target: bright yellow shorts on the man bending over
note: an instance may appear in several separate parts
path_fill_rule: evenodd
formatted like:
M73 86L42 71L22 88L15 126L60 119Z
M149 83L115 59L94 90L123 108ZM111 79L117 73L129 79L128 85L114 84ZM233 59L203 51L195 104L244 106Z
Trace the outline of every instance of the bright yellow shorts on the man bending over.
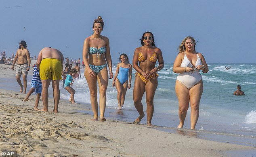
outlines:
M41 80L62 80L61 77L62 64L61 60L55 58L44 58L40 63Z

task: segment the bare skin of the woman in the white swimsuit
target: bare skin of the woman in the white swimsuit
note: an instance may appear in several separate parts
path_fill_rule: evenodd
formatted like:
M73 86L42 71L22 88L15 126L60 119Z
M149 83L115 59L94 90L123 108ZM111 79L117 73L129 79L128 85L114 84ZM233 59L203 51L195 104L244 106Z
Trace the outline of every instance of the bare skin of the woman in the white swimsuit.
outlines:
M185 56L184 53L186 53L187 58L189 59L190 63L192 63L193 65L195 65L197 61L197 54L198 54L199 58L201 59L202 65L198 65L195 68L197 70L202 70L204 73L208 72L208 66L206 64L204 56L201 53L197 53L194 50L194 47L195 47L195 43L193 42L192 39L187 39L185 41L185 48L186 48L185 52L178 54L178 56L174 61L173 71L175 73L184 73L185 71L189 72L194 70L191 67L185 67L185 68L180 67ZM180 118L180 124L178 125L178 128L183 128L184 121L187 115L187 110L189 108L189 103L190 103L191 129L195 129L195 125L199 117L199 103L200 103L203 90L204 90L204 87L203 87L202 80L200 80L197 84L195 84L195 86L193 86L190 90L187 87L185 87L180 81L176 80L175 92L179 102L178 114Z

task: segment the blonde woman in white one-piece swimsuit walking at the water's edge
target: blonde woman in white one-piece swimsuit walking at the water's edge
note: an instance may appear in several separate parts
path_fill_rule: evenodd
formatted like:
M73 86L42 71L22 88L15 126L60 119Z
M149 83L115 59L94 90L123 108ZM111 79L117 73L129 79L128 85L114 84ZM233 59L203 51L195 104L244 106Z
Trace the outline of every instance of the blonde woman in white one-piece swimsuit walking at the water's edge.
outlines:
M202 70L203 73L207 73L208 66L204 56L195 51L195 45L193 37L183 39L173 65L173 72L179 73L175 84L175 92L179 103L180 124L178 128L183 128L189 102L191 106L191 129L195 129L199 117L199 104L204 90L202 76L199 71ZM189 65L193 65L193 67Z

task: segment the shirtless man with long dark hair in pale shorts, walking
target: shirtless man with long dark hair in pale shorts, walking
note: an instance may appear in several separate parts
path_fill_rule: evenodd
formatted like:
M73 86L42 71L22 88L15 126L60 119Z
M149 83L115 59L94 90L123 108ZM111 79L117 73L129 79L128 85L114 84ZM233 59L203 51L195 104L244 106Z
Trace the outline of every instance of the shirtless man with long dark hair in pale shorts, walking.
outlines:
M18 65L16 67L16 80L21 87L20 92L26 93L27 90L27 73L29 71L30 67L30 53L27 50L27 43L25 41L21 41L19 43L19 49L17 50L17 53L13 59L13 65L11 69L14 70L14 65L18 59ZM21 75L23 78L23 84L21 83ZM24 87L24 90L23 90Z

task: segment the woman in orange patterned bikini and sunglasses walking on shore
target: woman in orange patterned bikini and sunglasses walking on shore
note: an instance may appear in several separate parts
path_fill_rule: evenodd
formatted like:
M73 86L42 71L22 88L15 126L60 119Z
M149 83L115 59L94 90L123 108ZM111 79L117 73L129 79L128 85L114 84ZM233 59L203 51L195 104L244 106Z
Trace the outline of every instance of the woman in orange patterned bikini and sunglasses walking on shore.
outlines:
M155 67L157 62L159 65ZM138 66L138 63L140 64ZM134 124L141 122L145 116L143 104L141 103L143 94L146 92L147 102L147 125L152 126L151 120L154 113L154 96L158 85L157 71L164 68L162 51L155 46L153 33L145 32L141 38L141 47L134 51L132 65L137 71L133 88L133 101L139 116L134 120Z

